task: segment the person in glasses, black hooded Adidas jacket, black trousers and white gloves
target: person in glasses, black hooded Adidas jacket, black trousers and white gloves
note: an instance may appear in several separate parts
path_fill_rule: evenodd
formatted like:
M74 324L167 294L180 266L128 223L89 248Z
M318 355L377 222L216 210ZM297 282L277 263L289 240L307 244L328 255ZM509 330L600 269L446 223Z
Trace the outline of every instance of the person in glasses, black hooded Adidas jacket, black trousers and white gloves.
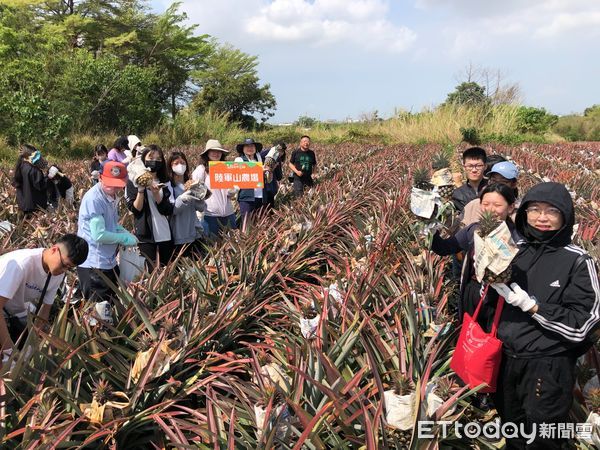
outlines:
M598 270L571 244L573 201L559 183L541 183L523 198L515 218L524 237L512 262L512 283L492 287L508 303L498 338L503 343L495 404L503 422L524 424L537 438L508 439L507 449L559 449L567 441L542 439L539 424L569 423L577 358L592 345L600 321Z

